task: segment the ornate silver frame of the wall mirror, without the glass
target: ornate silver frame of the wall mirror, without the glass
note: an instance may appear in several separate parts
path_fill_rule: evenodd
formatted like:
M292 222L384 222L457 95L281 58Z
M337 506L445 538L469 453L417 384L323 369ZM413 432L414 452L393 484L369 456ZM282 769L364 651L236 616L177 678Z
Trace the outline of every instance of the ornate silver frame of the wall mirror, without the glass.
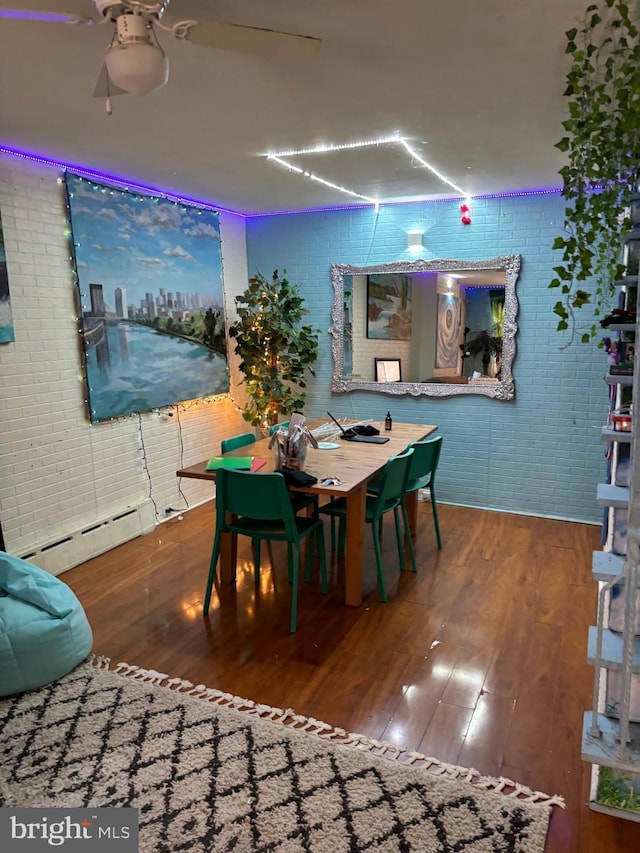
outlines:
M442 272L442 273L465 273L483 270L503 270L505 276L505 302L504 302L504 327L502 342L502 361L500 379L491 383L447 383L444 379L438 382L368 382L349 379L344 373L344 344L345 344L345 316L344 299L345 276L354 275L379 275L383 273L405 273L408 275L416 273ZM450 259L438 259L433 261L397 261L387 264L376 264L373 266L352 266L351 264L332 264L331 281L333 283L334 298L331 309L332 326L329 333L332 336L331 350L333 355L333 376L331 378L331 390L334 393L346 393L349 391L377 391L383 394L396 396L411 394L413 396L451 397L461 394L480 394L492 397L496 400L513 400L515 397L515 385L513 381L512 366L516 354L516 332L518 326L516 316L518 313L518 299L516 296L516 282L520 272L520 255L501 255L485 261L457 261Z

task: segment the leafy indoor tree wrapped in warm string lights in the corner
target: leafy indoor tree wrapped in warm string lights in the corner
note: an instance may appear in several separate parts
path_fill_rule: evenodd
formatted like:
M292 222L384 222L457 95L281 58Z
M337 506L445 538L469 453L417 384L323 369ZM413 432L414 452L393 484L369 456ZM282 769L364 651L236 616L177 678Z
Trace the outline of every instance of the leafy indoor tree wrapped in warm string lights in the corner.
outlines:
M257 272L235 303L235 338L248 402L242 414L252 426L267 429L280 415L299 411L306 400L306 376L318 357L319 329L303 324L309 312L298 288L275 270L271 280Z

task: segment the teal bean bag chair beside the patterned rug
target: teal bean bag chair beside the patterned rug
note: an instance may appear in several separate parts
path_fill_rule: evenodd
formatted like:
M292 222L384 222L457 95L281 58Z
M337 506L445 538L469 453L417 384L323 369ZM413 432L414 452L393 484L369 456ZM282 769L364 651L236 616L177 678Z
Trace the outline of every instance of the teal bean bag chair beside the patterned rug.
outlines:
M72 590L33 563L0 551L0 696L61 678L87 657L92 644Z

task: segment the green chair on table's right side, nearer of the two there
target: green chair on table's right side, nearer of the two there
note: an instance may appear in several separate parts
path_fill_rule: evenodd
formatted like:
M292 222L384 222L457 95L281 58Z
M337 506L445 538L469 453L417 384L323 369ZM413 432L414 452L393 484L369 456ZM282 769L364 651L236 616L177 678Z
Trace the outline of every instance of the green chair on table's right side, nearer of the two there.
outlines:
M382 568L382 546L380 533L382 528L382 519L387 512L391 512L393 510L400 570L405 570L404 546L406 542L407 549L409 551L409 558L411 560L411 569L414 572L416 571L413 542L409 535L409 522L403 500L409 478L409 467L412 456L413 450L411 448L407 448L403 453L398 454L398 456L392 456L391 459L388 459L380 475L379 492L376 495L368 494L366 496L365 521L367 524L371 525L373 548L376 554L376 566L378 569L378 585L380 587L380 598L382 601L387 600L387 591ZM338 529L338 553L344 554L347 516L346 499L342 497L336 498L334 501L321 506L318 512L321 515L328 515L340 519L340 527ZM404 530L401 530L401 517Z

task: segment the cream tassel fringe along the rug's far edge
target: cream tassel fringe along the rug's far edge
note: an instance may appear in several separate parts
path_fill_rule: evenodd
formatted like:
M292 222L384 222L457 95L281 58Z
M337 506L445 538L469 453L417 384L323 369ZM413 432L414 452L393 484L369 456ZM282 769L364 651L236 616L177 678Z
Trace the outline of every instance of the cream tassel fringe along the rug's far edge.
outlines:
M111 659L101 655L90 655L87 662L100 669L111 668ZM253 702L251 699L234 696L232 693L223 693L215 688L206 687L204 684L194 685L191 681L186 681L182 678L172 678L166 673L156 672L153 669L142 669L141 667L132 666L129 663L122 662L116 664L113 667L113 672L118 675L134 678L136 681L152 684L156 687L175 690L178 693L192 696L194 699L201 699L215 705L252 714L260 719L269 720L279 725L287 726L290 729L310 732L325 740L362 749L374 755L382 756L389 761L395 761L398 764L411 764L421 767L436 776L454 781L470 782L485 790L495 791L506 797L524 800L528 803L565 808L564 799L557 794L545 794L543 791L535 791L503 776L483 776L474 768L447 764L444 761L423 755L415 750L406 750L402 746L395 746L394 744L379 741L366 735L347 732L344 729L330 726L328 723L316 720L313 717L305 717L302 714L297 714L291 708L273 708L270 705Z

